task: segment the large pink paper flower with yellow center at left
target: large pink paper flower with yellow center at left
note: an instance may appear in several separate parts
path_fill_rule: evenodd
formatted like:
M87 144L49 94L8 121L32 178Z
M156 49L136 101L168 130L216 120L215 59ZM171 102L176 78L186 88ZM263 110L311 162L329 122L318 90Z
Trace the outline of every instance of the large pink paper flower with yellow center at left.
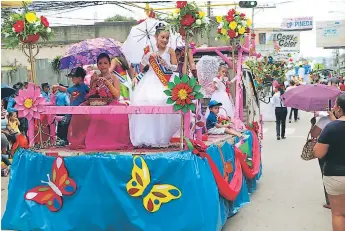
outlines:
M20 90L14 100L16 101L14 108L18 110L19 117L25 117L28 121L33 118L40 119L45 99L41 97L40 89L35 88L34 84L30 83L27 89Z

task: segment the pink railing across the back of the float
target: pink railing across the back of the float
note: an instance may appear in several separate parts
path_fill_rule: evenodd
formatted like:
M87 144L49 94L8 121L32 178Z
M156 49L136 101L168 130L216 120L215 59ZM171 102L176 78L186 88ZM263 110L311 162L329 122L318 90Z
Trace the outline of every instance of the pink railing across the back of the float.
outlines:
M55 123L54 118L57 114L71 115L115 115L115 114L181 114L184 116L184 136L191 138L190 133L190 112L182 114L180 111L175 112L172 106L49 106L45 105L41 115L48 115L48 126L50 126L50 138L55 141ZM145 122L145 121L143 121ZM29 141L30 146L34 145L34 121L29 122Z

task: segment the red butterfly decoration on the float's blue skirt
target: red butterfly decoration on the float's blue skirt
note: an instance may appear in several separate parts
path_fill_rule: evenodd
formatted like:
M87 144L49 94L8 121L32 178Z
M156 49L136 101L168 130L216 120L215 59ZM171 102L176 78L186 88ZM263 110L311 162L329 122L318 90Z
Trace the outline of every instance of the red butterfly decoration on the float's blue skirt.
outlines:
M64 159L57 157L53 163L52 181L48 176L47 186L38 186L29 190L24 198L26 200L35 201L38 204L46 205L52 212L57 212L62 208L62 196L70 196L77 190L77 185L73 179L68 176Z

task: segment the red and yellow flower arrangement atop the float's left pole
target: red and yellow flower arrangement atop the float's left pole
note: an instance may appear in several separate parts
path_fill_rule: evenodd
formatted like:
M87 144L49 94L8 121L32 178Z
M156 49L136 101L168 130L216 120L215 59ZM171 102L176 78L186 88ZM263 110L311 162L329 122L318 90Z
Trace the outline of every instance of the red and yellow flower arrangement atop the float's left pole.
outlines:
M1 33L9 48L15 48L20 43L36 43L40 38L49 40L52 30L45 16L38 17L36 12L29 11L23 3L24 11L21 14L11 14L4 19Z

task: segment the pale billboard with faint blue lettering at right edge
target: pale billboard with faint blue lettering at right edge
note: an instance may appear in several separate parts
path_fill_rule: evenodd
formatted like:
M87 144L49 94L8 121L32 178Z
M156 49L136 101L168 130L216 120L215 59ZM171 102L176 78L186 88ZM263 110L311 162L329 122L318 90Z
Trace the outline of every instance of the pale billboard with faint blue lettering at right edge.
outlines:
M317 22L316 47L345 47L345 20Z

